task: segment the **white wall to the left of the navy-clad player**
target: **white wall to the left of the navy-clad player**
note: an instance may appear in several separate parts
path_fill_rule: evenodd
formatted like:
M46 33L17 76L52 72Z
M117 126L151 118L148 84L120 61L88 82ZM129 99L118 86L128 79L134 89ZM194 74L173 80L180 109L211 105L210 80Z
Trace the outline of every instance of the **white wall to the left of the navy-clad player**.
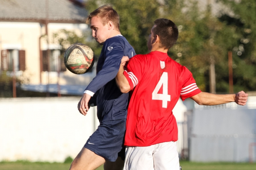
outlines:
M0 99L0 161L63 162L67 156L74 158L98 126L95 107L83 116L77 110L79 100Z

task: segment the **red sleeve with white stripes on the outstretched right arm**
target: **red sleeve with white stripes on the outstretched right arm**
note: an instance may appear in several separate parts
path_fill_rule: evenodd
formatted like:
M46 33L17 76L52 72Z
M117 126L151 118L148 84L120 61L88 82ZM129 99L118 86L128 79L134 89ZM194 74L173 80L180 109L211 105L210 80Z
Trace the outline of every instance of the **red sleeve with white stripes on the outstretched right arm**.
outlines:
M181 89L181 99L184 101L186 98L199 94L201 90L197 87L192 73L186 67L184 67L183 71L184 79Z

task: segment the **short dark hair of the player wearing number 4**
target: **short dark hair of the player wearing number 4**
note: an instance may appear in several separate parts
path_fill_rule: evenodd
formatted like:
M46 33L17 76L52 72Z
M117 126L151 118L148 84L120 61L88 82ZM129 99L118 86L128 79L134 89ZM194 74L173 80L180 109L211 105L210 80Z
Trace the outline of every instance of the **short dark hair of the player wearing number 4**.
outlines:
M160 47L170 49L177 41L179 30L170 19L159 18L154 21L156 27L152 30L160 38Z

